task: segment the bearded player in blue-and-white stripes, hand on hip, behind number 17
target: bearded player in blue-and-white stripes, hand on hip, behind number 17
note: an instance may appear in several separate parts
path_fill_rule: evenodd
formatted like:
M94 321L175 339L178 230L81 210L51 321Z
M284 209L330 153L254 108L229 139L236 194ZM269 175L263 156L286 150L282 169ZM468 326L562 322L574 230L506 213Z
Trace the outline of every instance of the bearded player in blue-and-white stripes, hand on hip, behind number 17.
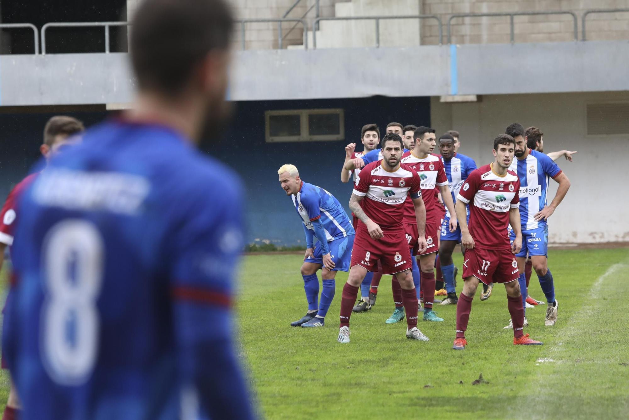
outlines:
M516 172L520 179L522 249L516 254L516 260L520 270L520 279L518 279L520 289L525 290L522 292L522 306L526 307L524 269L528 254L548 303L545 325L552 326L557 322L559 304L555 299L553 277L548 269L548 218L564 199L570 188L570 180L552 158L528 148L525 131L521 124L509 125L506 128L506 134L513 137L516 142L516 159L513 160L509 169ZM548 178L552 178L559 184L557 193L550 204L547 204ZM505 328L509 326L511 323Z

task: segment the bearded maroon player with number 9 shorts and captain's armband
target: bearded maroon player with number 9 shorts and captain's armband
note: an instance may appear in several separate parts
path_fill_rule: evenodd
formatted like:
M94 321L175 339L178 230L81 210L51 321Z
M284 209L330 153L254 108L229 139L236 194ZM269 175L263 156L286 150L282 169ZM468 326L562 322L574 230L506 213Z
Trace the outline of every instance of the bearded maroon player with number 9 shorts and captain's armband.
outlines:
M350 199L350 209L360 219L352 249L352 263L343 287L338 342L350 342L349 322L359 285L377 261L384 274L396 274L406 309L406 337L428 341L417 329L417 296L411 274L411 253L402 224L406 197L415 206L418 243L425 250L425 206L421 199L419 175L400 164L404 143L401 136L387 133L382 138L381 160L365 165ZM366 198L365 198L366 197Z

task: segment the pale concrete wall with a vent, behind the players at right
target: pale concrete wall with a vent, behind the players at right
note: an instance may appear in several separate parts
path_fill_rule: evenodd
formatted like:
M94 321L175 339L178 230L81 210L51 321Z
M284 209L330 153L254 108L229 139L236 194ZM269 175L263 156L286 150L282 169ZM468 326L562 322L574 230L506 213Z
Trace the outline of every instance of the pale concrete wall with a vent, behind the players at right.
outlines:
M628 241L629 220L623 180L616 182L629 152L628 135L586 135L586 104L629 101L629 92L488 95L480 102L445 104L431 98L431 123L437 133L460 131L461 153L478 165L493 160L496 135L510 123L537 126L544 152L577 150L574 162L557 161L572 187L550 218L550 241L555 243ZM555 196L550 181L548 200Z

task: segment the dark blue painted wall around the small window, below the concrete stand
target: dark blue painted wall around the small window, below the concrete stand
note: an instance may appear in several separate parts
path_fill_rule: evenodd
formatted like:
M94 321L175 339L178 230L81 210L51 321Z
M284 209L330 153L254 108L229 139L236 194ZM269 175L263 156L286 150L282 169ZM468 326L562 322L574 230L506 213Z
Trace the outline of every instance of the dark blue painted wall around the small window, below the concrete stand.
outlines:
M342 108L345 140L306 143L265 143L264 111L270 109ZM106 113L67 113L90 126ZM40 157L43 126L53 114L0 114L0 200L28 174ZM248 242L303 245L304 234L292 202L279 187L277 169L292 163L306 182L330 191L347 209L352 184L340 182L345 145L360 144L360 129L376 123L384 133L387 123L428 125L428 97L369 97L308 101L238 102L230 127L208 150L240 173L247 187ZM359 148L360 150L360 148ZM349 211L348 211L349 214Z

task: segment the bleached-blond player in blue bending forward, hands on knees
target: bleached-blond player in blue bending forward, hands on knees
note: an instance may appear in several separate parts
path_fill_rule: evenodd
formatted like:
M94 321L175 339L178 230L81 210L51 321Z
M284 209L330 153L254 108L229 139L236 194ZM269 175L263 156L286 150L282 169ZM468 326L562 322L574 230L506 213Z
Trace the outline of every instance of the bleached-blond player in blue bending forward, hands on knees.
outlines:
M328 191L308 182L303 182L294 165L283 165L277 170L279 183L292 206L299 214L306 233L306 255L301 265L304 279L308 312L291 326L304 328L322 327L325 316L334 299L337 271L347 272L352 259L354 229L345 209ZM316 245L313 242L317 239ZM319 279L322 270L323 290L319 297Z

